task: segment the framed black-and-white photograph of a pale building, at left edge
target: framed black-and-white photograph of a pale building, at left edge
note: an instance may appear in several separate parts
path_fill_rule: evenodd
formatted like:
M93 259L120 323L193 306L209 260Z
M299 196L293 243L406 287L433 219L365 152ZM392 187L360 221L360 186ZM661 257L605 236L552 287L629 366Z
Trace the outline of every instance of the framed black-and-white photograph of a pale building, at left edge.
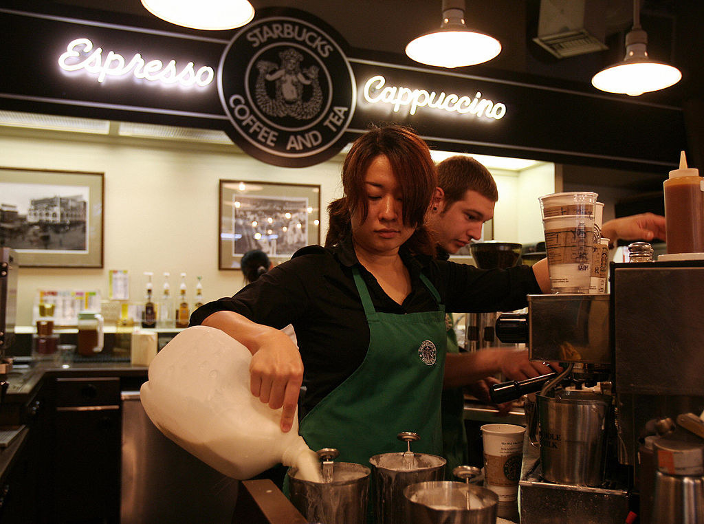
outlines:
M22 267L103 267L103 173L0 167L0 247Z

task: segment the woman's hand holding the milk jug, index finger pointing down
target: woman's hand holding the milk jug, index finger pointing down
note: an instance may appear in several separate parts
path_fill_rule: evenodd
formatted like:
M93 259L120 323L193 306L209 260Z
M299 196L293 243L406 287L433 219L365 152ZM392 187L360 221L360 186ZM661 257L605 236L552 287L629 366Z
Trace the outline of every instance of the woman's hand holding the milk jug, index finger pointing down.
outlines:
M283 407L281 430L287 432L296 416L303 382L301 354L288 335L273 328L258 342L249 365L251 392L272 409Z

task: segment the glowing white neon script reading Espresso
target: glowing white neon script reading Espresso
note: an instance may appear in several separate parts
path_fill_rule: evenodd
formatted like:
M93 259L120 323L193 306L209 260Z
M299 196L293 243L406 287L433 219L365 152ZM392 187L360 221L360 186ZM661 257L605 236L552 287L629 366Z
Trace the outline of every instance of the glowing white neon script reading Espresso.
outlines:
M93 73L97 75L98 82L103 82L107 77L132 75L165 85L205 87L215 78L213 68L201 66L196 70L193 62L179 69L175 60L165 64L161 60L146 61L139 53L134 54L130 61L114 51L107 51L103 56L103 48L94 47L93 42L87 38L77 38L69 42L66 52L58 57L58 66L65 71L85 70Z

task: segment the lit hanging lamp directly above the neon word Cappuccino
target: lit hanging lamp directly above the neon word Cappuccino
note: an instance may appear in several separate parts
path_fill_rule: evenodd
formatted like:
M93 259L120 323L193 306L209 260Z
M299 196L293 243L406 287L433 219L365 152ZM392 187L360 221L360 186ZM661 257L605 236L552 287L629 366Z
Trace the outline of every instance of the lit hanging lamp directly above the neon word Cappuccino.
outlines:
M440 29L412 40L406 54L428 66L459 68L491 60L501 53L501 42L465 25L465 0L442 0Z

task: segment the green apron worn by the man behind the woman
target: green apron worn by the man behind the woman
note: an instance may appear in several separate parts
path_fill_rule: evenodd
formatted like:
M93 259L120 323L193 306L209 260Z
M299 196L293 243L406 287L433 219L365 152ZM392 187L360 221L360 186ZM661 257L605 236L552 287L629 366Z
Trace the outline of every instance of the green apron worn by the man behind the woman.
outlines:
M452 313L446 316L447 352L459 353L457 335L453 329ZM465 430L465 393L461 387L443 389L442 392L442 456L447 460L446 480L457 480L452 470L467 466L467 430Z

